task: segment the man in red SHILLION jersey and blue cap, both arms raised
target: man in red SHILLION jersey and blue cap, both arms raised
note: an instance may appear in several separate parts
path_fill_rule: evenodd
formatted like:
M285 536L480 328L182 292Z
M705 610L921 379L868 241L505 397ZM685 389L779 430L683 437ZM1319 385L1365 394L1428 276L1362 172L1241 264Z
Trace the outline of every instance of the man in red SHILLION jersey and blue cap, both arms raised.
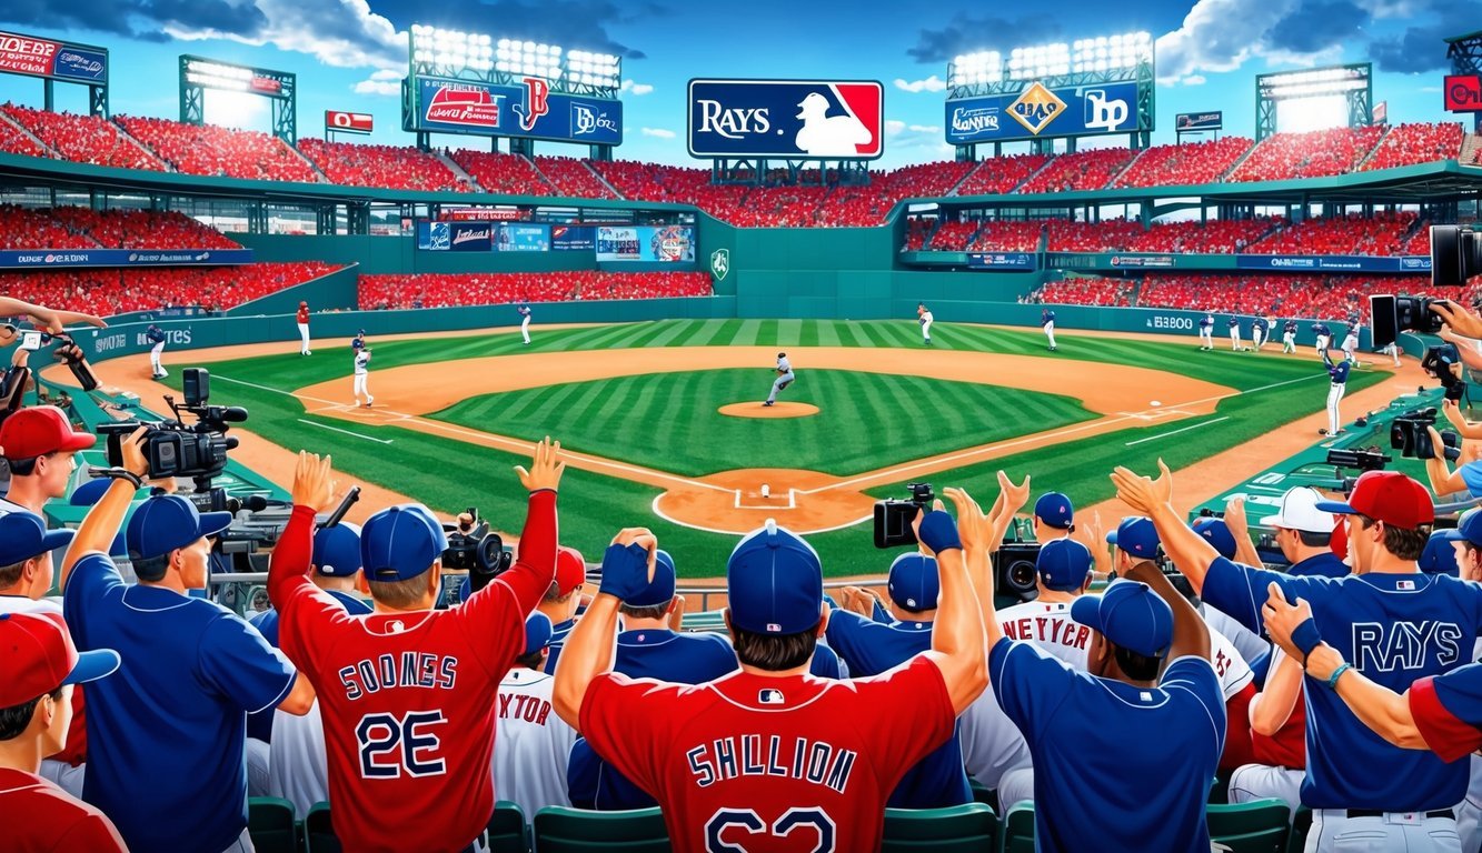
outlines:
M828 618L823 566L774 521L726 564L738 672L697 686L611 672L618 607L652 578L658 546L645 529L614 539L597 597L562 653L553 702L597 755L658 800L677 853L748 850L759 837L787 838L778 850L879 849L886 798L987 686L978 597L991 601L988 552L1002 532L993 536L966 493L946 493L960 539L946 512L917 521L941 576L932 647L855 681L808 674Z

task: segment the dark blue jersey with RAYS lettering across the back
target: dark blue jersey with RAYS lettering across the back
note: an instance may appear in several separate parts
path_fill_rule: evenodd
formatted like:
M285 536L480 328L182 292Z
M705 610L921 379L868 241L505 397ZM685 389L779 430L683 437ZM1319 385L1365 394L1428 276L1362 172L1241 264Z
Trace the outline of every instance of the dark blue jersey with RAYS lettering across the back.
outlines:
M1482 629L1482 586L1446 575L1350 575L1291 578L1217 558L1202 597L1252 631L1261 629L1267 585L1288 601L1312 604L1328 644L1365 677L1403 693L1427 675L1472 659ZM1467 792L1467 764L1446 764L1420 749L1400 749L1371 732L1337 693L1307 680L1307 779L1312 809L1429 812L1451 809Z

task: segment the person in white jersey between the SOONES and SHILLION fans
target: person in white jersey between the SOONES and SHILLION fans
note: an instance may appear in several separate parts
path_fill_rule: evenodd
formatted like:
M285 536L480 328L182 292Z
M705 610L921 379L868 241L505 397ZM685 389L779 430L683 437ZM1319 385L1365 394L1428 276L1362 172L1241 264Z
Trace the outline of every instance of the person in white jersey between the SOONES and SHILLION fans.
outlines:
M556 677L545 672L551 620L536 610L525 620L525 655L499 683L495 708L494 789L526 814L547 806L571 806L566 764L576 730L551 711Z

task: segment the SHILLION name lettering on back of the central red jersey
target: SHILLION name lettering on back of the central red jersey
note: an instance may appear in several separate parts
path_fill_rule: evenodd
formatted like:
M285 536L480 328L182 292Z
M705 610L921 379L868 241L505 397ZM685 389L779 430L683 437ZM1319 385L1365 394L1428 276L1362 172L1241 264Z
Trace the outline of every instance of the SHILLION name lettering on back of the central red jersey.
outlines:
M858 754L823 740L794 737L785 743L781 735L742 735L722 737L685 752L689 772L700 788L742 776L784 776L823 785L839 794L849 786Z

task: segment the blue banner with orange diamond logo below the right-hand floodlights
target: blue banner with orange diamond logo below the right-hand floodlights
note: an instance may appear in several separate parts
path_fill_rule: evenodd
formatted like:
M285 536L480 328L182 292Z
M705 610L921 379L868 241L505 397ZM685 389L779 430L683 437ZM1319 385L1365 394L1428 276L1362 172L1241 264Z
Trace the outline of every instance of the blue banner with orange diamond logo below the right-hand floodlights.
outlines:
M1131 133L1137 83L1046 89L1034 81L1017 95L947 101L947 142L1005 142L1089 133Z

